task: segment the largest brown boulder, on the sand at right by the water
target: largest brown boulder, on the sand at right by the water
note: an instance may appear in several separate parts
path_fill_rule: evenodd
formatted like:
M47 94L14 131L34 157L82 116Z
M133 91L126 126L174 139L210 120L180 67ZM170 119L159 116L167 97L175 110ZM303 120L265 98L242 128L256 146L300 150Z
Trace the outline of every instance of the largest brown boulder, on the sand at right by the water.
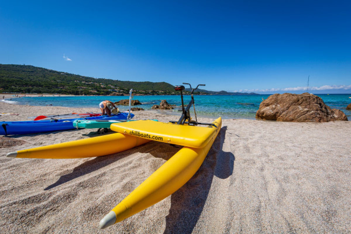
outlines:
M286 122L347 121L344 112L331 109L320 97L309 93L273 94L261 102L256 119Z

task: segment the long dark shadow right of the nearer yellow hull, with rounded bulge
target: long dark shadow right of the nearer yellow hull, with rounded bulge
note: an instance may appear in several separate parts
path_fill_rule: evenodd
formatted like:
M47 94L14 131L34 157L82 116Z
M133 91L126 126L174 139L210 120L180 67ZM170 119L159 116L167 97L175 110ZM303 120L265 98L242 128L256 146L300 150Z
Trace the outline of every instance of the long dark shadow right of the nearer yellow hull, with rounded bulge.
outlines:
M222 127L207 157L195 175L171 195L166 233L192 233L210 192L213 176L226 179L233 173L235 157L222 150L227 127Z

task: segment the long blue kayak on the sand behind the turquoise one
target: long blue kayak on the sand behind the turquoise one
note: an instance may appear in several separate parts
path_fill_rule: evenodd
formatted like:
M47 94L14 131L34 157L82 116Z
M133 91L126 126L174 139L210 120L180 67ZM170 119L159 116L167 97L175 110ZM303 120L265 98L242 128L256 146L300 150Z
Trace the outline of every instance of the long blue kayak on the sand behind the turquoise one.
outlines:
M52 119L52 120L38 120L38 121L13 121L0 122L0 135L20 135L29 133L52 132L76 129L73 127L75 120L126 120L128 113L118 113L108 117L107 115L75 118L75 119ZM131 114L134 117L134 114Z

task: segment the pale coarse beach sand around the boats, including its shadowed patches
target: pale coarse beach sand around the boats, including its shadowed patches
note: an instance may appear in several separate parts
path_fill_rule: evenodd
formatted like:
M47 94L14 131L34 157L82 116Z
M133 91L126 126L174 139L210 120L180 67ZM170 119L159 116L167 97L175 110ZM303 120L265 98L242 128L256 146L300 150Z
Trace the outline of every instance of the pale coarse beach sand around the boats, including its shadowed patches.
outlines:
M19 113L0 116L0 121L91 111L98 109L0 102L1 113ZM167 112L134 114L177 119ZM96 131L84 129L4 137L0 233L350 233L351 122L225 119L190 181L104 230L98 228L100 219L179 147L150 142L122 153L71 160L5 157L94 136Z

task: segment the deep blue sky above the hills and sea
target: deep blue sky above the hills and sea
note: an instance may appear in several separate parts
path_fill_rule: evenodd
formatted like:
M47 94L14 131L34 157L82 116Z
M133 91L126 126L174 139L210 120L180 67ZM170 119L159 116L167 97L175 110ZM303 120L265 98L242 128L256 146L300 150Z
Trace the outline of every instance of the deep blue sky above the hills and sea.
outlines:
M0 63L258 93L301 93L310 75L313 93L351 93L350 12L348 1L6 1Z

